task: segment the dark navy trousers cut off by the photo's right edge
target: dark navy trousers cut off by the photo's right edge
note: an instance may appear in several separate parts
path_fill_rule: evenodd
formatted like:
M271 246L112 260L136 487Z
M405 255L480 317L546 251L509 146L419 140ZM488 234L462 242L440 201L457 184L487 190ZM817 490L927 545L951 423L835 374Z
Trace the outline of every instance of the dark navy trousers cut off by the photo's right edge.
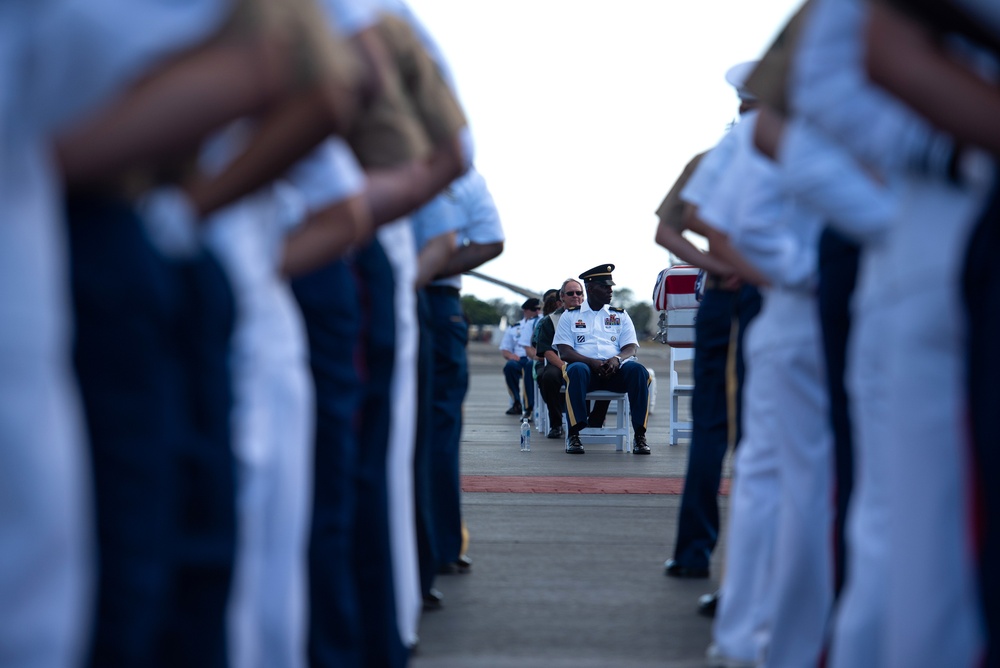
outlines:
M972 234L963 292L968 317L968 391L979 526L979 583L986 620L985 666L1000 666L1000 184Z

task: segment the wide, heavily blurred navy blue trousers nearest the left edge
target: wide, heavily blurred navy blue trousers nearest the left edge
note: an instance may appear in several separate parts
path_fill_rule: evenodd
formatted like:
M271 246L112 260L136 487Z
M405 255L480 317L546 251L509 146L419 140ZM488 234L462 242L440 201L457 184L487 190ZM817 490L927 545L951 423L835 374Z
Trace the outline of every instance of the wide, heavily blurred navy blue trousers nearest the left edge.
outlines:
M98 533L89 664L225 666L228 280L207 253L161 257L126 202L71 197L67 219Z

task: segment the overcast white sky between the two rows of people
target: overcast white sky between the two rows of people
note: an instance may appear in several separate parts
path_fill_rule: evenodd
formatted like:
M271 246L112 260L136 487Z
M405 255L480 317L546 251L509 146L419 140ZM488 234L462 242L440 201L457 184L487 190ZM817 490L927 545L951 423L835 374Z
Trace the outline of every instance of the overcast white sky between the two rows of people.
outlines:
M758 58L799 4L410 0L454 70L507 235L481 271L542 292L610 262L649 300L669 264L657 206L735 117L726 70Z

